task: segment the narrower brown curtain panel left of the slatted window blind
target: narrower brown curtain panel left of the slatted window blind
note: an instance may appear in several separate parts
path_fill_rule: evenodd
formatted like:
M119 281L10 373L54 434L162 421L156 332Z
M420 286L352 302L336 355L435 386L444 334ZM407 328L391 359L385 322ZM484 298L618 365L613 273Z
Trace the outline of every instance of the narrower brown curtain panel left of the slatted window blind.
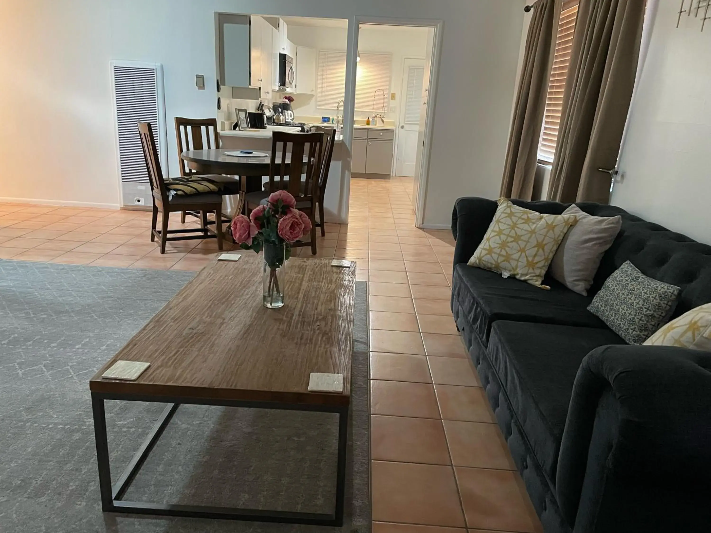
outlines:
M560 5L560 0L538 0L533 6L501 181L506 198L531 200L533 195Z

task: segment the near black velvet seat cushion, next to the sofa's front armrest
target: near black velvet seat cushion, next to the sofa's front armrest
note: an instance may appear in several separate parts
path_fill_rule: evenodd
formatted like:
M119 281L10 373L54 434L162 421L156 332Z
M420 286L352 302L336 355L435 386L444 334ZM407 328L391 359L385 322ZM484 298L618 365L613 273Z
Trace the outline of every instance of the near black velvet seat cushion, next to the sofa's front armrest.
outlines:
M493 325L486 357L551 486L577 370L588 352L609 344L625 342L608 329Z

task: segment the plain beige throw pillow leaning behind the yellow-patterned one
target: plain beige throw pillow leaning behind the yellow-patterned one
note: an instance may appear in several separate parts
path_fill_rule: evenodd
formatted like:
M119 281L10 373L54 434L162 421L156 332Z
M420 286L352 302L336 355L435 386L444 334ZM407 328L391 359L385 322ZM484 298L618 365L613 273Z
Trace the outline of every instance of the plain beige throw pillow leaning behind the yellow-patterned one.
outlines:
M571 291L587 296L603 254L620 231L622 217L594 217L575 204L563 215L575 215L577 224L565 234L555 252L550 275Z

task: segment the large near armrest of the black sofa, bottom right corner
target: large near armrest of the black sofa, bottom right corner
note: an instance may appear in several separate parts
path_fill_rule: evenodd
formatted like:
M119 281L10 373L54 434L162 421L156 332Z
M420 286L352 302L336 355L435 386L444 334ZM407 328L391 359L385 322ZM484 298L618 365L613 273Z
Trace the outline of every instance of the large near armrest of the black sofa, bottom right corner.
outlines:
M590 352L573 386L556 492L575 531L707 531L711 353Z

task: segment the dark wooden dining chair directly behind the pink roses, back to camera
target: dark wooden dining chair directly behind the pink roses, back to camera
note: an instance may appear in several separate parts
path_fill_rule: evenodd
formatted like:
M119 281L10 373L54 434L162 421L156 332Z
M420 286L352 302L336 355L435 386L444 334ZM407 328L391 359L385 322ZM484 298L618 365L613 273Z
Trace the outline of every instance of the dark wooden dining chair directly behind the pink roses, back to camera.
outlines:
M269 160L269 182L265 190L248 193L245 196L247 210L252 210L267 202L274 190L284 189L296 198L296 209L303 211L311 220L310 242L297 241L292 247L311 246L311 254L316 254L316 200L324 134L286 133L274 131L272 134L272 155ZM291 149L289 149L291 146ZM287 155L290 163L287 166ZM304 162L306 170L304 171Z

